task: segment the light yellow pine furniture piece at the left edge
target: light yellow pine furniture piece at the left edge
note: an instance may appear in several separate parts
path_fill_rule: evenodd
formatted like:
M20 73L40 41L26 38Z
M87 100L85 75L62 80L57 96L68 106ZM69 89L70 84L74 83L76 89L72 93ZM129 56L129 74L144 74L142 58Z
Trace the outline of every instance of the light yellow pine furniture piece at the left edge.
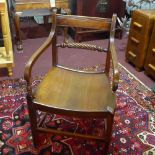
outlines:
M9 76L12 76L13 48L6 0L0 0L0 20L4 44L3 47L0 47L0 68L7 68Z

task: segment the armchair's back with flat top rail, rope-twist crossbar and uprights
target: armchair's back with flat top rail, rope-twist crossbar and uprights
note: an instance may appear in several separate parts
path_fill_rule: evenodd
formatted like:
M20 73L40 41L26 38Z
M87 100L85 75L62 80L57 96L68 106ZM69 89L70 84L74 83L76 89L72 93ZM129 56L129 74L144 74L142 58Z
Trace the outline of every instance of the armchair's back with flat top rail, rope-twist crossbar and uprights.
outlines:
M86 43L75 43L69 42L66 38L64 43L57 44L56 39L53 39L53 65L58 64L58 54L57 54L57 47L62 48L78 48L78 49L87 49L91 51L98 51L98 52L106 52L106 65L105 65L105 72L109 73L110 70L110 57L115 59L113 63L113 67L117 65L117 57L114 46L114 35L115 35L115 26L116 26L116 19L117 16L114 14L112 18L100 18L100 17L88 17L88 16L77 16L77 15L60 15L57 14L52 16L52 23L53 29L54 26L62 26L65 27L65 34L67 34L68 28L77 28L77 29L94 29L94 30L101 30L107 34L109 34L109 42L108 42L108 49L105 49L101 46L86 44ZM56 37L56 35L55 35ZM111 55L111 52L113 54Z

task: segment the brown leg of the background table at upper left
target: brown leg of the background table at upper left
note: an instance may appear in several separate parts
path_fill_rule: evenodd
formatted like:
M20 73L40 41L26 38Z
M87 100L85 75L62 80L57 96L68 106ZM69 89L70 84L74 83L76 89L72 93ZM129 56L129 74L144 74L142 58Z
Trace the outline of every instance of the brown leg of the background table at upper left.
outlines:
M17 49L23 50L22 37L21 37L21 31L20 31L20 17L17 14L15 14L14 16L14 25L15 25L15 30L16 30Z

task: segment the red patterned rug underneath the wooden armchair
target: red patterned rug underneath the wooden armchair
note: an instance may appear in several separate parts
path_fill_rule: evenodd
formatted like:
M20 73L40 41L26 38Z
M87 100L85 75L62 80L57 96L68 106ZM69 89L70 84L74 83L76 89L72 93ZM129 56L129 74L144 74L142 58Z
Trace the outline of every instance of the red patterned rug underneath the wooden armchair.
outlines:
M96 66L92 69L102 68ZM121 80L111 155L155 154L155 94L120 66ZM33 85L37 85L36 78ZM103 155L104 144L56 135L38 135L38 149L32 144L23 79L0 81L0 154L2 155ZM39 113L41 117L41 113ZM102 120L84 120L49 115L45 126L80 132L101 132Z

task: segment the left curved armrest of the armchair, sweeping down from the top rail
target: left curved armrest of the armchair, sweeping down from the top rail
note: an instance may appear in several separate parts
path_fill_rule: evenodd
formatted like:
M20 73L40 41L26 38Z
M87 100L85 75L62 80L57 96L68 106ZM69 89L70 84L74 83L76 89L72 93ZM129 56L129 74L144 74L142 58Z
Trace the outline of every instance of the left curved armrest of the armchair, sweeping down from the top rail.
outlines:
M32 96L32 88L31 88L31 72L32 72L32 67L35 64L35 62L38 60L40 55L49 47L49 45L52 43L53 37L55 35L55 30L56 30L56 12L54 11L54 14L52 15L52 28L51 32L46 39L46 41L40 46L39 49L37 49L31 58L28 60L25 66L24 70L24 79L27 82L27 91L30 96Z

